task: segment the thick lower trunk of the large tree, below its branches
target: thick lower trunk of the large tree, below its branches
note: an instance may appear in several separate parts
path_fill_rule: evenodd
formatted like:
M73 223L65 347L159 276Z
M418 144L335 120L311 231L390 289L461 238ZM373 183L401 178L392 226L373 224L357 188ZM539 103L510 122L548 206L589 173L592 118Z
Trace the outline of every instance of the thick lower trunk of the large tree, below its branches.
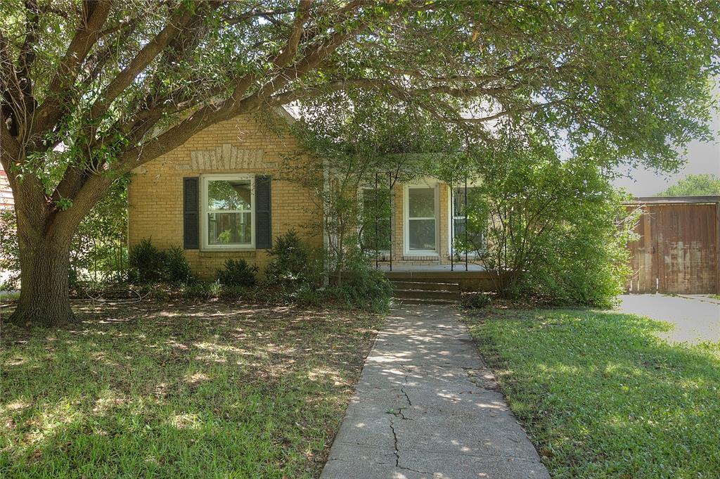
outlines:
M19 226L19 225L18 225ZM75 321L68 297L69 244L19 233L20 299L9 321L18 326L58 326Z

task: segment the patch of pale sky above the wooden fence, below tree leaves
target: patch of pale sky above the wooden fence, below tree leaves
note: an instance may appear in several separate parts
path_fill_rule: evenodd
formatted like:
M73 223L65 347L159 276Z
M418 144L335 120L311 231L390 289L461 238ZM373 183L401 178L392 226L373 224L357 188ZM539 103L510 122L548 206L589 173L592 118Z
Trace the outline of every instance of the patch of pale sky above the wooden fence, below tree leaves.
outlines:
M716 88L716 98L720 98L720 83ZM672 184L683 179L688 174L715 174L720 176L720 105L716 109L711 128L715 133L715 141L701 143L693 141L688 145L688 153L685 156L687 163L677 174L657 174L652 170L643 168L621 169L621 173L629 174L629 177L618 178L615 181L617 187L628 190L635 196L653 196Z

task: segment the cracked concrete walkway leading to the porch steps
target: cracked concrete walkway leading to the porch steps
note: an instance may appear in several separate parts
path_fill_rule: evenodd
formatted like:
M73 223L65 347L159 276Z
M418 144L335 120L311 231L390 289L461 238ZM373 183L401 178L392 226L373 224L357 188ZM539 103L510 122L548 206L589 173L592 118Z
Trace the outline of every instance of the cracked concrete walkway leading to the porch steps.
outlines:
M395 310L321 478L549 478L454 308Z

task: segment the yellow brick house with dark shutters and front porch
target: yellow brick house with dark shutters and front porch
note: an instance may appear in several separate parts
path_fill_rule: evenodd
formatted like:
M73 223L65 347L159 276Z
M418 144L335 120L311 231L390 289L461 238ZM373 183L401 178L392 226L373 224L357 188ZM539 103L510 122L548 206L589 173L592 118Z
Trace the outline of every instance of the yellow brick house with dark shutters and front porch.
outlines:
M278 115L292 117L283 109ZM283 177L284 158L297 143L282 129L252 116L212 125L166 155L134 171L129 198L130 246L150 238L158 248L181 245L194 272L210 278L225 259L243 258L261 272L273 238L294 229L310 246L323 246L319 202L310 190ZM322 174L318 171L318 174ZM463 273L483 282L477 266L452 251L452 238L464 231L462 200L472 188L451 188L423 177L392 184L378 181L358 192L368 205L390 192L390 218L377 218L387 231L385 251L369 251L374 264L396 278L442 278ZM374 191L377 190L377 191Z

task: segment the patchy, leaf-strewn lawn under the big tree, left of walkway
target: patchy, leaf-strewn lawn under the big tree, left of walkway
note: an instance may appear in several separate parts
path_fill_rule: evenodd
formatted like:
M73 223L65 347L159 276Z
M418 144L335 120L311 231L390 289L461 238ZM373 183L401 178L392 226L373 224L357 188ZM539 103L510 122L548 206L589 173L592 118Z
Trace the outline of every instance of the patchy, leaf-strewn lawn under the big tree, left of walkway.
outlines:
M0 477L316 477L381 320L222 303L80 318L3 325Z

